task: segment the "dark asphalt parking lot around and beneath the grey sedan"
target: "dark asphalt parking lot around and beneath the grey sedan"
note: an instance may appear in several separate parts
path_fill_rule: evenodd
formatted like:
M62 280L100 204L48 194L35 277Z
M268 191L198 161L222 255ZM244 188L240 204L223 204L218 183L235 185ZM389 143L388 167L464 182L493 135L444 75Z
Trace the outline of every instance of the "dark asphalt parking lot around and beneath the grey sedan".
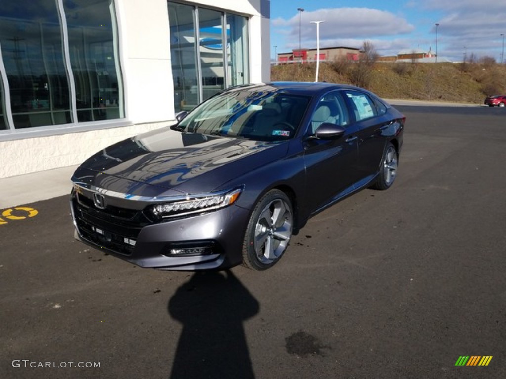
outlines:
M397 108L394 186L264 272L136 267L74 241L67 196L4 215L0 377L505 377L506 112Z

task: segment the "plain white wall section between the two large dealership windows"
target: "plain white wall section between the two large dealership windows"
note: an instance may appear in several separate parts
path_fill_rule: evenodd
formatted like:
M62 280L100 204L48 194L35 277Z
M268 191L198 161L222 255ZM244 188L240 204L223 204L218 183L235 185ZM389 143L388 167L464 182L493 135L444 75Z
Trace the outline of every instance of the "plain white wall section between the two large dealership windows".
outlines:
M117 0L126 116L135 124L174 120L166 0Z

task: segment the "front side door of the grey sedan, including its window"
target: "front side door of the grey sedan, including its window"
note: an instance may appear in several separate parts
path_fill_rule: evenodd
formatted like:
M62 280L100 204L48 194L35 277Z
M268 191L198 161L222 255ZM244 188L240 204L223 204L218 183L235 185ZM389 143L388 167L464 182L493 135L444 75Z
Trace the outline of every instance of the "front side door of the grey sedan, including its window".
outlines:
M335 139L318 139L315 131L323 123L345 128L345 134ZM314 108L304 139L306 188L310 213L353 190L357 179L358 146L355 127L340 91L323 96Z

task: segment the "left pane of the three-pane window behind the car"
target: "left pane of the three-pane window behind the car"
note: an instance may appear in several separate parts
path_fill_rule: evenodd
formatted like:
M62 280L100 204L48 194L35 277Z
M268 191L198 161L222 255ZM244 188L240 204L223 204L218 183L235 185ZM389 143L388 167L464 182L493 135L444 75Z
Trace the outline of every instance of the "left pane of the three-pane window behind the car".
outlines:
M171 27L174 109L176 112L191 110L200 102L194 7L168 3L168 18Z

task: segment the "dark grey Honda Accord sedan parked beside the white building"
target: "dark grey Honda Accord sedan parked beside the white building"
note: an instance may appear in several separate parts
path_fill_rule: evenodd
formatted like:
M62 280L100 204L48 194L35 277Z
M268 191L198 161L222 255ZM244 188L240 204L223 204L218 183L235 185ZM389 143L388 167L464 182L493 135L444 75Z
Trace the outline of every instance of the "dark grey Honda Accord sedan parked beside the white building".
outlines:
M397 175L405 117L362 88L224 90L72 176L76 238L142 267L264 270L318 212Z

